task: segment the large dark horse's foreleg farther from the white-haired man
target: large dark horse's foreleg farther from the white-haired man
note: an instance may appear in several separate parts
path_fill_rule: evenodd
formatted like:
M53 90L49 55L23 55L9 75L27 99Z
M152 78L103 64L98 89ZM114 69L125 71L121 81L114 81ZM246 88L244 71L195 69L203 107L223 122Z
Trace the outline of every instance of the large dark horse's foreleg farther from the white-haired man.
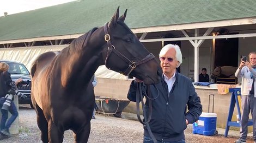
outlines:
M64 131L61 131L54 123L53 121L48 122L48 137L49 141L52 143L58 143L63 142L64 138Z

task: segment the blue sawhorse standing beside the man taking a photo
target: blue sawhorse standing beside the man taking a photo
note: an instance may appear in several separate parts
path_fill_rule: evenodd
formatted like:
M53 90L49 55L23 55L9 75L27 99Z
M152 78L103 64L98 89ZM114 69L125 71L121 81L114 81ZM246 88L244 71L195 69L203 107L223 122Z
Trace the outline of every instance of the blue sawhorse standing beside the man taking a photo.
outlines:
M229 92L232 94L231 94L231 99L230 99L228 120L227 120L227 125L225 128L224 137L228 137L228 131L229 131L230 126L240 127L240 123L238 123L236 121L231 121L233 113L234 113L235 104L236 104L237 111L239 114L239 120L241 120L241 111L240 111L240 103L239 103L239 98L241 99L241 88L229 88ZM247 126L252 126L252 124L253 124L252 120L249 120Z

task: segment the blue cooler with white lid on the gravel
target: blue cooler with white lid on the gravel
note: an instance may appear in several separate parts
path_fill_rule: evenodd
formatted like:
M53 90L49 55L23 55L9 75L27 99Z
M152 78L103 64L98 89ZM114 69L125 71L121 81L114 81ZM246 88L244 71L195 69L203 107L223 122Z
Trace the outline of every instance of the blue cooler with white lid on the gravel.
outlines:
M216 113L205 113L203 112L199 120L193 123L193 134L202 134L202 135L215 135L218 132L216 131Z

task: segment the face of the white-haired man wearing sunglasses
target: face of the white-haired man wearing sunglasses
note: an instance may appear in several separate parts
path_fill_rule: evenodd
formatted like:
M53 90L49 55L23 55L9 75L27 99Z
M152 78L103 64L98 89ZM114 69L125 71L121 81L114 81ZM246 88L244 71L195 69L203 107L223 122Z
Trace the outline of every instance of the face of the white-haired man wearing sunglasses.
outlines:
M166 54L160 57L160 66L166 76L172 76L175 72L176 66L179 64L179 61L176 60L175 55L176 51L172 48L169 49Z

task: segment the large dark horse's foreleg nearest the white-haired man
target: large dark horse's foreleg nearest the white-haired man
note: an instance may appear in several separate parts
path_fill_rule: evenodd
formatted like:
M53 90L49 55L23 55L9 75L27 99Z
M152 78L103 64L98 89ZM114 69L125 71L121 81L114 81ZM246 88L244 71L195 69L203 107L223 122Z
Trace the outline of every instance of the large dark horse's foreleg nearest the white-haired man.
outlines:
M87 142L89 139L90 135L90 122L84 128L82 131L78 133L74 133L74 138L75 138L75 143L80 143L80 142Z

